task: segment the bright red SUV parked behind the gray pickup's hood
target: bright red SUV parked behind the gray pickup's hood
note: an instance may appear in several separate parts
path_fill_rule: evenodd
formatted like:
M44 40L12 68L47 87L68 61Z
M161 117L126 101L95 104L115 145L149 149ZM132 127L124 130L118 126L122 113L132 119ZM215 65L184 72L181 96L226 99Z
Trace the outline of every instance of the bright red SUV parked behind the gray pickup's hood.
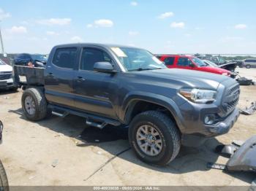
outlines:
M206 71L214 74L221 74L230 77L230 71L208 66L199 58L192 55L159 55L160 61L163 61L169 69L189 69L197 71Z

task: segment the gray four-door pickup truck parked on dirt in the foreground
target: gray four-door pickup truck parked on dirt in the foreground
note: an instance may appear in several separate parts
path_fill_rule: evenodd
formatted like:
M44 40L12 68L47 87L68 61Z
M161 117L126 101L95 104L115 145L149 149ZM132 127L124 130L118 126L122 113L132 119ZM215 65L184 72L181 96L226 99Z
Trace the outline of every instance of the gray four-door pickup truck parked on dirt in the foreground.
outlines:
M240 88L234 79L167 69L135 47L59 45L45 69L15 66L18 75L27 79L22 84L27 119L42 120L50 111L85 117L97 128L126 125L135 154L157 165L170 163L187 136L227 133L239 115Z

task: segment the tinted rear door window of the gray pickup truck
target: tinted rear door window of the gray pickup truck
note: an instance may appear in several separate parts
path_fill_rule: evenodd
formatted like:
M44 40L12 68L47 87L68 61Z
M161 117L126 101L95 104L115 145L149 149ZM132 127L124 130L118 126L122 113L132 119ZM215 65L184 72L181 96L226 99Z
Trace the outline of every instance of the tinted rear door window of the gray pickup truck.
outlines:
M65 69L73 69L77 56L76 48L57 49L53 56L53 63Z

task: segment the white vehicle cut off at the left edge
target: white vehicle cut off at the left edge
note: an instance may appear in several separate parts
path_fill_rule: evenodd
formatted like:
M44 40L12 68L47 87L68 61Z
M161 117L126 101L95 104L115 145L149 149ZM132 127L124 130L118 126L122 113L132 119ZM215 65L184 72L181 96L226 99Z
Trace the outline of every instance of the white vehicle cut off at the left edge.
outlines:
M12 79L12 66L7 65L4 61L0 60L0 90L17 90Z

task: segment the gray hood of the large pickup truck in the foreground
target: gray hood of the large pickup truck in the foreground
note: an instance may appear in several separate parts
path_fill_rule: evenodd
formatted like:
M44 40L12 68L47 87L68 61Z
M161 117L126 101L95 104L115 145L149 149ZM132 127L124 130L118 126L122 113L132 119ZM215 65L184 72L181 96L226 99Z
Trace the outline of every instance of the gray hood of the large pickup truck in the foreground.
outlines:
M216 90L219 83L230 79L219 74L211 74L202 71L192 71L187 69L157 69L148 71L135 71L140 79L145 79L152 83L157 81L166 84L175 84L182 87L198 87ZM148 82L149 83L149 82Z

